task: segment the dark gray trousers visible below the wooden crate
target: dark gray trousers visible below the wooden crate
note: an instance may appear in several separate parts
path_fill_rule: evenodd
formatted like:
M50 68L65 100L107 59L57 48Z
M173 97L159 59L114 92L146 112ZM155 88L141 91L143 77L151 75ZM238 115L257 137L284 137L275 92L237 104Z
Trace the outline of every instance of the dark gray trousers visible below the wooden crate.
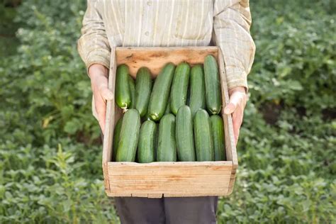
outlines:
M218 197L114 198L122 224L213 224Z

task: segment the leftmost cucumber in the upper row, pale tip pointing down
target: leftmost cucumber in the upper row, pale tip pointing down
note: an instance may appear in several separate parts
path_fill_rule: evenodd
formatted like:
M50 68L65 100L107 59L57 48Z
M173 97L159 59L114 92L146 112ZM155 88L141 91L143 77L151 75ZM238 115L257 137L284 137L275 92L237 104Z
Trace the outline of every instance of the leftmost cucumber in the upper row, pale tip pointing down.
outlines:
M116 72L116 103L120 108L126 109L130 106L130 87L127 65L119 65Z

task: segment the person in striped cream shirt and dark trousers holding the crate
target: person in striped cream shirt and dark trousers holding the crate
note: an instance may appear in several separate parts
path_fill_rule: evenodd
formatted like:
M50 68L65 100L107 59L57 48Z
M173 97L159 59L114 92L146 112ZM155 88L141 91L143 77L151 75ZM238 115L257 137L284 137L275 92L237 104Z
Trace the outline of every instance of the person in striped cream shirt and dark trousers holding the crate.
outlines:
M104 130L108 69L115 47L218 45L223 52L237 143L254 60L249 0L88 0L78 40L91 79L92 108ZM216 223L218 198L115 198L121 223Z

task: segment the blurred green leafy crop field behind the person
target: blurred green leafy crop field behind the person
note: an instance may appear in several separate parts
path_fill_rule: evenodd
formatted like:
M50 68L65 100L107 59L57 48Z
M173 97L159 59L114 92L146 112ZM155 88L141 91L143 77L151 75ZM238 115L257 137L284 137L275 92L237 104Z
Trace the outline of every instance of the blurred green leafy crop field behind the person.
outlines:
M335 223L335 1L250 5L257 54L218 223ZM85 7L0 3L0 223L118 223L76 50Z

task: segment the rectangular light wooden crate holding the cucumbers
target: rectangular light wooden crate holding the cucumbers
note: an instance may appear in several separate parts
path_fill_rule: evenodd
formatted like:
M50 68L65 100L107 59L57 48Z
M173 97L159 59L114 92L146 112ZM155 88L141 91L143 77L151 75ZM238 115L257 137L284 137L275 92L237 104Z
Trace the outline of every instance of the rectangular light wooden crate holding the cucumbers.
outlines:
M223 57L218 47L116 47L112 50L114 65L127 64L135 77L142 66L156 77L167 62L175 65L189 62L203 63L206 55L218 60L223 105L228 103ZM111 63L113 65L113 63ZM116 66L110 68L108 88L114 93ZM228 196L233 191L237 169L237 152L231 116L221 111L225 125L225 152L223 162L111 162L113 128L122 116L114 100L107 102L106 128L103 139L103 177L108 196L135 196L148 198L177 196Z

